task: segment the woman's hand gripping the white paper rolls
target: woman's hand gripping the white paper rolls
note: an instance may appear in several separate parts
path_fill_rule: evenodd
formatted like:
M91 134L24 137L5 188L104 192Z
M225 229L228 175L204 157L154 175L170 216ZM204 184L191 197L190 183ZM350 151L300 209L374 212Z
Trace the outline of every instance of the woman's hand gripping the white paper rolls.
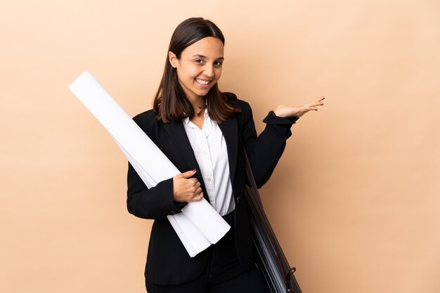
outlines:
M195 171L186 171L173 177L173 197L176 202L198 202L203 199L200 182L191 178Z

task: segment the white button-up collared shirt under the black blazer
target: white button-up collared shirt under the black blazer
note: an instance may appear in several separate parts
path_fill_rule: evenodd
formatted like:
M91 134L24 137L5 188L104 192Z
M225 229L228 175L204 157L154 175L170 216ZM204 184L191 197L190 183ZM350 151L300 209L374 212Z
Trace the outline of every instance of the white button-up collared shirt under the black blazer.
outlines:
M207 109L205 109L204 117L202 129L198 128L188 117L182 122L200 167L198 172L202 172L209 201L212 207L224 216L235 209L229 174L228 150L219 125L209 118Z

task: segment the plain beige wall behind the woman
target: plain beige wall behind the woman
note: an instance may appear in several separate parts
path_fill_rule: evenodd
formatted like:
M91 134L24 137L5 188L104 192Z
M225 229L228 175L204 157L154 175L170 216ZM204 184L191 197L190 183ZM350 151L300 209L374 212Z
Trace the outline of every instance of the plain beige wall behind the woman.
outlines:
M144 292L152 221L67 90L150 108L181 20L226 35L221 89L261 119L316 96L261 193L304 293L440 292L440 2L0 1L0 292ZM184 268L183 268L184 269Z

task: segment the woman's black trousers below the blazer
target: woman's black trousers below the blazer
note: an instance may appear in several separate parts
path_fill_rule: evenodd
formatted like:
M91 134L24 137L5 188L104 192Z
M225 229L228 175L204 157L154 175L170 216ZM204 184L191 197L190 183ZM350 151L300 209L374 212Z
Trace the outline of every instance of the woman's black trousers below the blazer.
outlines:
M208 248L209 261L202 274L178 285L157 285L145 280L148 293L267 293L266 282L256 267L244 271L235 252L233 212L223 217L231 230ZM184 270L185 268L182 268ZM179 272L176 272L179 273Z

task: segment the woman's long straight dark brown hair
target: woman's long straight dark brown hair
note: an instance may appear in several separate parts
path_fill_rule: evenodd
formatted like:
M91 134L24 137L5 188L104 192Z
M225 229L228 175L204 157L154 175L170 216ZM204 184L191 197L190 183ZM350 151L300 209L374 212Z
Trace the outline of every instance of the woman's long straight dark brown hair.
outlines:
M180 59L186 47L205 37L216 37L225 44L224 36L214 22L203 18L188 18L174 30L168 51L172 51ZM153 110L157 112L157 119L162 119L164 123L179 122L185 117L192 118L195 115L193 105L179 84L177 72L169 63L168 51L164 74L153 100ZM217 83L209 89L205 98L208 101L209 117L215 122L224 122L226 117L240 112L240 109L234 108L227 102L227 97L219 91Z

